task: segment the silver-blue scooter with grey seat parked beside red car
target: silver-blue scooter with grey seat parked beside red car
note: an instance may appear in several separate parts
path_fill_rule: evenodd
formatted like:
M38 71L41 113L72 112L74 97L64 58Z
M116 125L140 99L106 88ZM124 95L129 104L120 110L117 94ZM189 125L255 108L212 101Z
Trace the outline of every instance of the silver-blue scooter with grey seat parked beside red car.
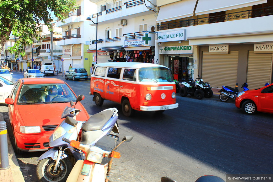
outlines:
M84 154L75 151L67 142L62 141L65 137L69 140L80 140L79 133L81 131L81 140L85 144L94 145L100 139L104 139L104 146L116 146L119 137L115 133L119 133L117 126L118 110L116 108L106 109L95 115L92 115L87 121L77 121L76 115L81 110L75 108L76 104L84 99L80 95L75 105L70 102L70 107L65 107L61 118L65 118L53 131L49 137L49 146L53 147L42 154L37 161L36 174L40 181L66 181L72 165L79 159L84 159ZM72 107L74 105L74 107Z

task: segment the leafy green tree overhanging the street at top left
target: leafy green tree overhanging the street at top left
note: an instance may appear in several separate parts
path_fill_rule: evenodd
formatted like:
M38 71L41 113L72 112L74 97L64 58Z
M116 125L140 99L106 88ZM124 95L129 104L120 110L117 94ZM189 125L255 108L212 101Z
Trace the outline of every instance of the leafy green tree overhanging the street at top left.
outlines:
M10 48L15 55L24 55L24 45L40 39L41 24L52 30L50 11L64 22L70 11L74 11L77 0L0 0L0 51L9 36L16 37Z

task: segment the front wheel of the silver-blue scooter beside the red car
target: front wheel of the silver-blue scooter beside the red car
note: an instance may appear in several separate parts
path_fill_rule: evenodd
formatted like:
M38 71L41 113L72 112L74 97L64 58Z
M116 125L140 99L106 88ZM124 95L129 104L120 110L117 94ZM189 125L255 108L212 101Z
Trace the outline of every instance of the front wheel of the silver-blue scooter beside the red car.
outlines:
M55 161L52 158L45 158L38 162L36 174L42 182L65 182L72 170L72 164L69 159L60 159L59 167L53 172Z

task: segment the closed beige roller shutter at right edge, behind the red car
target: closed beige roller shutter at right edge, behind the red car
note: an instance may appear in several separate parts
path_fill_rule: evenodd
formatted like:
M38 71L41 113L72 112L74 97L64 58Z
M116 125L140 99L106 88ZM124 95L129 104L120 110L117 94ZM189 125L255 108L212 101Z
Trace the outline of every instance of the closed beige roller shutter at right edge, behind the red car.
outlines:
M249 51L247 84L249 89L261 88L270 83L272 54L255 54Z

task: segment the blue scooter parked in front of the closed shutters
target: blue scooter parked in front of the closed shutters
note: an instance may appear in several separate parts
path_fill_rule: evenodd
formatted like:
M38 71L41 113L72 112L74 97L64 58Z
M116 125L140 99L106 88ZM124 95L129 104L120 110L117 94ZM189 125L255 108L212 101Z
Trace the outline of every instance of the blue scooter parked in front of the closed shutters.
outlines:
M238 85L238 83L236 83L236 85ZM244 88L244 90L242 92L245 92L247 90L249 90L248 88L248 84L246 82L243 83L243 85L241 86L241 88ZM232 87L228 87L228 86L222 86L222 89L219 90L220 95L219 95L219 99L222 102L227 102L228 99L236 99L237 95L240 93L238 88L232 88Z

